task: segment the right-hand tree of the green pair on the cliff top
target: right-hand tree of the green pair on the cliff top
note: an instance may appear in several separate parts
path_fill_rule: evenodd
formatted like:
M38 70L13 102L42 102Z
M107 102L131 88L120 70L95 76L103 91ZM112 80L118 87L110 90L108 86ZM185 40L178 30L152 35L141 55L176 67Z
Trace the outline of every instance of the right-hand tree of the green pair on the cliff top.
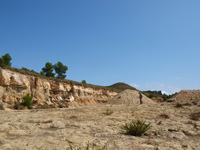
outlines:
M55 72L58 74L57 78L64 79L66 77L66 71L68 70L68 67L63 65L61 62L58 62L55 64Z

